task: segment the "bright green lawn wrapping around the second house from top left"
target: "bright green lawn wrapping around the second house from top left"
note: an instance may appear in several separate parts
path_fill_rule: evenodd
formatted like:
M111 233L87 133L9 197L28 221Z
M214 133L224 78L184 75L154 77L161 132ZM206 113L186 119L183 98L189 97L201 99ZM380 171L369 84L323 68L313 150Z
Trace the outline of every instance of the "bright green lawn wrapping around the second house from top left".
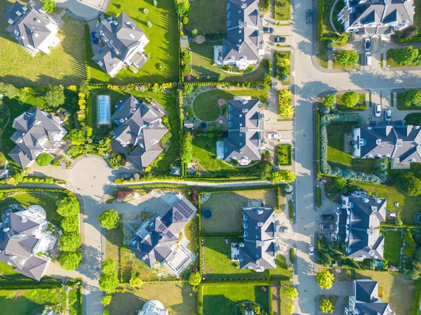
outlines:
M148 10L147 14L143 9ZM110 78L98 65L89 60L93 83L112 82L123 85L138 82L173 82L178 81L178 22L175 15L174 1L159 1L156 8L153 1L145 0L112 0L105 13L119 15L126 13L145 32L149 43L145 51L151 54L145 66L138 74L133 74L129 69L121 71ZM152 27L147 27L147 22L152 22ZM160 70L158 65L164 66Z

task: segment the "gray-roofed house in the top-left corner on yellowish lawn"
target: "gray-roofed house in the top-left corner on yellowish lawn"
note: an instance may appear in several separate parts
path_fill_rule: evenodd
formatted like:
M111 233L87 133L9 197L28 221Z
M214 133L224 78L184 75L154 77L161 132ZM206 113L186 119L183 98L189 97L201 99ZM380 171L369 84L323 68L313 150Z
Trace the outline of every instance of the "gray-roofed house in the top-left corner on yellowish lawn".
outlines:
M20 46L25 49L27 46L38 49L51 34L47 27L50 23L48 18L29 4L22 6L15 2L12 7L8 8L4 19L9 23L6 31L15 37Z

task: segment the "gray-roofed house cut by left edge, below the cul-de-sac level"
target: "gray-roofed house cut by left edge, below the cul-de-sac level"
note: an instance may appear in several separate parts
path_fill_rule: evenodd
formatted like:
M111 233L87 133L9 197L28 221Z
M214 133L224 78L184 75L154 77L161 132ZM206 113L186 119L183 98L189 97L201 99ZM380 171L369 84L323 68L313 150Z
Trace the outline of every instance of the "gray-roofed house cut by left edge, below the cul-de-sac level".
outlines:
M13 270L41 280L50 259L42 254L52 250L57 239L47 232L46 211L38 205L13 213L4 210L0 224L0 261Z

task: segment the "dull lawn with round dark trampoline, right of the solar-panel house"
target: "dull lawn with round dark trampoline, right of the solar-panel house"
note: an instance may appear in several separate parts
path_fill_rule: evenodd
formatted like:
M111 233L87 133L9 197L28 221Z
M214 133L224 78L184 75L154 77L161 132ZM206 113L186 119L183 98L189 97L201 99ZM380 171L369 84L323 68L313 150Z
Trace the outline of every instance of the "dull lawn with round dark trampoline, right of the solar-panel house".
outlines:
M276 208L276 190L253 190L210 194L201 208L213 211L210 219L201 220L202 233L240 232L243 225L242 210L249 199L262 199L271 208ZM224 222L224 224L221 224Z

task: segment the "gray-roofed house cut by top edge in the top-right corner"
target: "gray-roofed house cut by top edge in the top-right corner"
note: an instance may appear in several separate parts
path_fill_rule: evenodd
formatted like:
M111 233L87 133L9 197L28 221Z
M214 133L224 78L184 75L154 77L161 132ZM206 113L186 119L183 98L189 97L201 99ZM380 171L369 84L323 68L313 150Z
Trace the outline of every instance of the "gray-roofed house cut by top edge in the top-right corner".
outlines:
M344 0L338 21L354 40L377 36L390 41L396 31L413 25L413 0Z

